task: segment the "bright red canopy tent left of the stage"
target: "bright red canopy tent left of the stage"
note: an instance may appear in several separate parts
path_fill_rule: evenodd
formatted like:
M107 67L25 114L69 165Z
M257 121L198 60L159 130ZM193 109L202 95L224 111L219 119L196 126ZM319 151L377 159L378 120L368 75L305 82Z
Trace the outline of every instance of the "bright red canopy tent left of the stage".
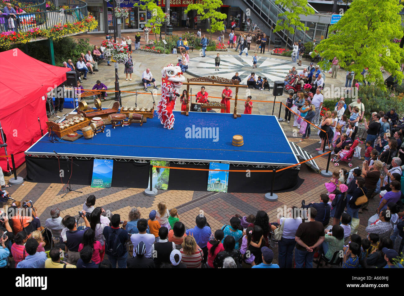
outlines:
M46 132L46 93L63 83L70 69L40 62L19 49L0 52L0 61L0 123L7 153L14 154L18 167L25 161L24 151L41 137L38 117ZM0 166L8 172L4 155L1 148Z

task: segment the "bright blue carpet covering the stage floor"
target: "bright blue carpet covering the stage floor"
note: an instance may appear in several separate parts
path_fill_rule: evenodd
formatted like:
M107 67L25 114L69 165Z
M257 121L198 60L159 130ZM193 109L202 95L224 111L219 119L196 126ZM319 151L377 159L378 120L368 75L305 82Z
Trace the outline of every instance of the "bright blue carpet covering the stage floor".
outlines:
M93 139L84 137L74 141L51 143L46 134L30 147L26 154L131 157L136 159L167 159L184 161L223 161L246 164L298 163L275 116L189 112L189 116L175 111L173 130L167 130L156 116L147 118L143 126L106 126ZM194 126L194 127L193 127ZM198 128L212 130L209 139L200 139ZM216 129L218 128L218 129ZM216 133L218 130L218 133ZM210 132L210 130L208 131ZM242 135L244 145L231 145L234 135ZM213 137L215 136L215 137Z

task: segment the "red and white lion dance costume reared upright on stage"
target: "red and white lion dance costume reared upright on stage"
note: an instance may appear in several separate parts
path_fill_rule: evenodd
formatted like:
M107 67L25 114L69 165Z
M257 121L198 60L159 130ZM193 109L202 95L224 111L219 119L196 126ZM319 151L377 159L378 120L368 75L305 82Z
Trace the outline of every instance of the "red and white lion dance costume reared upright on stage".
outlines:
M179 97L179 88L185 77L179 66L168 64L161 70L161 99L157 105L158 118L164 128L172 129L174 127L174 114L176 97Z

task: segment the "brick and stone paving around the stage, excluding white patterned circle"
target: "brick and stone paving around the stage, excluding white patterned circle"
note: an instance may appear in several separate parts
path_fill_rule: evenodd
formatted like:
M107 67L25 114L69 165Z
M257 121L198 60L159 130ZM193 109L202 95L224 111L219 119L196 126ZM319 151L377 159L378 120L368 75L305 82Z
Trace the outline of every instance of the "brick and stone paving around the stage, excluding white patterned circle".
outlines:
M175 34L177 33L178 32L175 32ZM132 36L134 34L129 35L134 37ZM76 37L89 37L91 44L99 44L103 40L104 35L88 34L85 36L78 35ZM237 53L234 52L234 54ZM190 53L190 58L194 56L198 56L197 51ZM142 54L140 56L134 54L135 79L139 79L141 72L148 67L151 68L154 75L156 75L156 81L159 82L161 81L161 66L175 60L175 57L172 55L164 55L158 58L150 56L149 59L146 60L145 57L147 57L147 55ZM303 61L303 64L305 63L307 63L307 61ZM88 75L88 80L83 83L84 88L90 87L90 85L92 86L97 79L101 79L101 81L107 84L108 87L113 87L114 68L107 67L104 62L100 64L99 68L100 72L97 72L97 75ZM120 71L123 72L123 68L120 69ZM342 81L341 76L342 75L339 75L339 79L333 80L334 85L341 86L345 82ZM185 74L185 77L189 78L190 76ZM121 76L120 82L122 87L128 85L129 81L124 81ZM210 91L213 96L219 96L220 92L221 89L212 89ZM279 99L283 101L284 97ZM273 96L269 92L253 91L253 99L272 100ZM126 106L134 106L134 100L135 97L130 96L125 98L124 104ZM143 95L143 97L141 95L138 96L139 105L147 104L149 101L150 97L146 97L146 95ZM104 105L112 106L112 102L103 102L103 107L107 107ZM253 111L255 114L269 115L272 113L272 104L260 103L257 107L258 108L255 108ZM241 109L242 108L240 107L239 112L242 111ZM277 114L278 112L276 110L277 107L275 109ZM283 111L281 115L284 115ZM319 147L320 144L318 144L316 131L312 132L311 139L299 143L298 141L300 137L295 136L297 131L292 127L292 123L286 124L286 122L282 122L281 126L289 141L296 142L297 145L306 149L307 152L311 153L313 156L318 155L315 149ZM364 149L362 149L362 151L364 151ZM321 170L326 168L326 156L317 157L315 161ZM360 164L360 159L356 158L353 160L354 167ZM338 169L339 168L346 168L349 170L347 163L341 163ZM329 170L333 171L334 169L336 168L331 164ZM26 176L25 164L17 169L17 173L19 176ZM52 207L59 207L59 209L61 209L61 215L77 215L78 211L82 209L82 204L86 201L88 195L94 194L97 197L96 206L102 206L106 210L109 209L112 213L119 213L122 219L128 219L128 213L132 207L137 207L141 211L142 217L147 218L152 209L157 209L157 204L160 201L165 201L169 209L177 207L181 221L183 221L187 228L192 228L194 227L196 215L202 210L214 232L224 224L228 224L229 219L236 213L240 215L250 215L256 214L258 210L264 210L268 213L270 221L275 222L277 220L276 215L278 209L283 209L285 206L288 208L294 205L299 207L302 199L305 199L306 203L318 201L319 195L326 192L324 182L328 182L329 178L320 176L320 174L314 172L314 170L308 168L305 164L301 165L299 177L304 180L303 184L294 191L278 193L278 201L276 202L266 201L263 194L256 193L213 193L205 191L158 190L158 195L155 197L147 197L143 194L144 188L91 188L90 186L76 184L72 184L72 189L82 191L82 193L70 192L62 198L66 193L66 190L62 190L62 184L40 184L30 182L24 182L21 185L13 186L10 188L9 192L17 201L23 201L25 199L31 199L34 201L34 206L38 210L38 215L42 224L44 224L44 221L50 217L50 209ZM6 181L9 178L10 177L5 177ZM358 233L361 236L366 235L364 228L367 226L368 218L374 214L373 210L376 209L378 203L379 198L375 197L370 200L369 208L371 210L359 214L360 227ZM277 262L277 248L274 249L274 253L274 262Z

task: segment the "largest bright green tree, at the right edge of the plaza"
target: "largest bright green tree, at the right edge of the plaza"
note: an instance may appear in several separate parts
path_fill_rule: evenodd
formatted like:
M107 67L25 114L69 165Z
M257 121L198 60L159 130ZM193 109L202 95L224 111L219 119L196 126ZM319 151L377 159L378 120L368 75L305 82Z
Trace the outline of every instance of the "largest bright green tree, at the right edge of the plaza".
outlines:
M381 89L386 89L381 69L402 81L404 50L393 42L394 38L402 37L398 14L402 8L400 0L353 1L338 23L329 28L333 33L316 46L316 52L323 58L320 66L324 67L336 56L342 68L356 73L358 81L363 81L359 73L364 68L368 68L366 81Z

